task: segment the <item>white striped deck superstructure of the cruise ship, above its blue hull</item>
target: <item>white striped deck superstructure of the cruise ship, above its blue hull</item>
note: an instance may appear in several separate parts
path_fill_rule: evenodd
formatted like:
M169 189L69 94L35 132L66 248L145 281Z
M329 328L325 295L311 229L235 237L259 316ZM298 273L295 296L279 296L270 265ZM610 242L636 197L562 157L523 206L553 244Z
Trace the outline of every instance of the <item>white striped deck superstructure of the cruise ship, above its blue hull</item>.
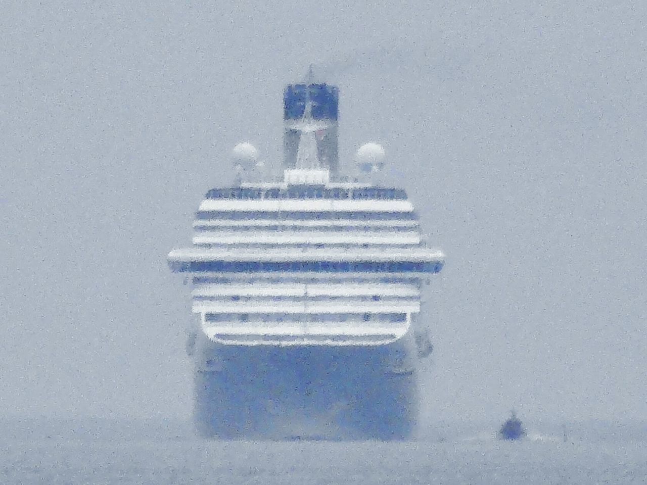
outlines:
M382 345L404 336L420 311L420 277L444 262L424 246L411 203L268 200L272 189L204 199L193 247L169 254L173 270L197 277L192 310L205 334L226 345Z

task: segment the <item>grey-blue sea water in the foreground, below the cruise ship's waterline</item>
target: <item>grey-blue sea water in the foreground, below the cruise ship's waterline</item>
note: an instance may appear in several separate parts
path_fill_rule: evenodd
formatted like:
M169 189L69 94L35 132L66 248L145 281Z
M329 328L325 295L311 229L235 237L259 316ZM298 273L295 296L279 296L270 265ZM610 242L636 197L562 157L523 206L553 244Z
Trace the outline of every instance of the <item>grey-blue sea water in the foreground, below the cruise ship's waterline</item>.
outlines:
M10 438L3 484L646 484L647 442L483 433L417 442ZM566 439L566 440L565 440Z

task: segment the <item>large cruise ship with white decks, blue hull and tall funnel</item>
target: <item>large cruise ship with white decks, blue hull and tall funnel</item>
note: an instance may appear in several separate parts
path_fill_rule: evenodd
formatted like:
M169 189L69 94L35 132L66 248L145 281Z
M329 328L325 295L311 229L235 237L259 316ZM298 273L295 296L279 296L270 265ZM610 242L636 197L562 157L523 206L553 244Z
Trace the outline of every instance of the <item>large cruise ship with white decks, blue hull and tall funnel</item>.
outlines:
M405 439L417 369L432 352L421 291L443 268L384 149L338 160L338 89L289 85L281 174L232 152L236 180L214 188L173 250L192 281L195 423L206 437Z

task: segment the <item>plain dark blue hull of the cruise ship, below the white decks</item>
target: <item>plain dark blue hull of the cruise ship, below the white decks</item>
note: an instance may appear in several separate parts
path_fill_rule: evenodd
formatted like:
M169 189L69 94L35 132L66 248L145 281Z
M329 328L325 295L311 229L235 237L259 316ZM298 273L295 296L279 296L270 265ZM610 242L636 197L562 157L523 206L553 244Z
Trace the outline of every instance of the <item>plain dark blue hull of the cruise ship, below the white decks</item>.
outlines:
M411 437L417 376L410 339L380 346L227 346L197 352L195 423L204 437Z

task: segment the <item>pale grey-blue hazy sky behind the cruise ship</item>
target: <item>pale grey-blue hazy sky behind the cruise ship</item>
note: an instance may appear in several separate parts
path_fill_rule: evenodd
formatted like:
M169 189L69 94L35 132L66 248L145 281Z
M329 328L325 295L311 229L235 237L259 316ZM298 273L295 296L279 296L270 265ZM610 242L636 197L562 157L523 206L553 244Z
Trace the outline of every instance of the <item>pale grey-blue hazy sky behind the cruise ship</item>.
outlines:
M316 63L342 170L384 144L447 254L424 414L647 418L647 7L609 4L3 3L0 407L190 413L166 254Z

